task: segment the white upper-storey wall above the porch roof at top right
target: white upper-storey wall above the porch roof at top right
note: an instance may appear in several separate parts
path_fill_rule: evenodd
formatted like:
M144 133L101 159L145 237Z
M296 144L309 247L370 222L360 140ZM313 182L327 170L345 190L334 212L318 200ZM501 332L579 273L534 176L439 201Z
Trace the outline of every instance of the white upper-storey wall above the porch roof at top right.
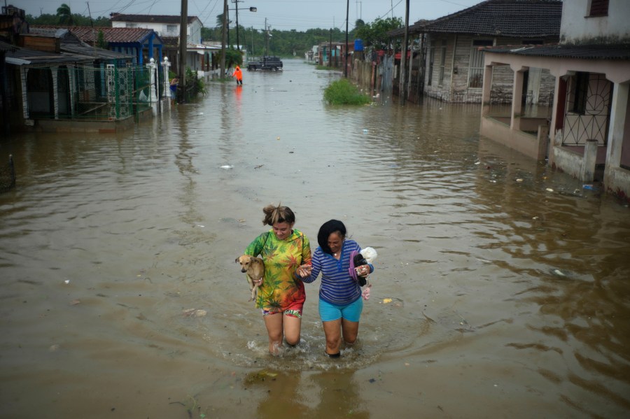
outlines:
M591 0L563 0L561 43L630 41L630 0L610 0L608 16L587 17Z

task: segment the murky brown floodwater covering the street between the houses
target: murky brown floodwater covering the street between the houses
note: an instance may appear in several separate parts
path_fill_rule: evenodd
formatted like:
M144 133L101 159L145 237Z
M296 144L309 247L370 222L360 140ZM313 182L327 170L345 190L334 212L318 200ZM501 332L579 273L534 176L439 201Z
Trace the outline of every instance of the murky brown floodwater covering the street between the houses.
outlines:
M284 66L123 134L0 141L0 417L629 416L628 206L480 138L478 105L330 107L339 73ZM337 218L379 253L338 360L319 280L267 354L235 257L279 202L313 250Z

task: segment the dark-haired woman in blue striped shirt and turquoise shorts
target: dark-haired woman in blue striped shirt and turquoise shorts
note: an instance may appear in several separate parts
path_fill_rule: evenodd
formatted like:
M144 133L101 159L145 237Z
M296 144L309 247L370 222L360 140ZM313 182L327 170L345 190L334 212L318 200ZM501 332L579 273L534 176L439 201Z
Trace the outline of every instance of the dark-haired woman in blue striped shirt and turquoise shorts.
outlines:
M352 345L358 335L363 300L358 280L350 276L353 251L360 252L356 241L346 239L346 226L339 220L325 222L317 234L319 247L315 250L311 266L302 265L297 274L305 283L317 279L319 287L319 316L326 335L326 355L339 357L343 336L346 345ZM371 264L355 267L358 276L374 271Z

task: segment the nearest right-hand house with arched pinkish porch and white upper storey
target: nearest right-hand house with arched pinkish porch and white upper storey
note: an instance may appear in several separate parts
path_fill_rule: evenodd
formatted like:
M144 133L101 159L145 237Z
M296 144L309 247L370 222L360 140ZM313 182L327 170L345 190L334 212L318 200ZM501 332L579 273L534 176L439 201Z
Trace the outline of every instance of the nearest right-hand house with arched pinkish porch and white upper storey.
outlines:
M486 48L481 134L628 199L629 22L630 1L564 0L558 45ZM521 96L528 73L549 72L549 118L529 115L518 100L509 113L493 111L493 91L505 90L498 69L512 74L512 97Z

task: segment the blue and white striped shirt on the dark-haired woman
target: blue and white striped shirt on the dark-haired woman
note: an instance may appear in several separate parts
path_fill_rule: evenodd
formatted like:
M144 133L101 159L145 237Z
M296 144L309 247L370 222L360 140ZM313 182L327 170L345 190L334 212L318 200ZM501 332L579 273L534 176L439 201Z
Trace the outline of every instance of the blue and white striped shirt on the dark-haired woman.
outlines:
M324 253L318 247L311 260L311 275L302 278L305 283L312 283L321 272L321 286L319 287L319 298L330 304L344 306L356 301L361 297L361 288L358 281L354 280L348 271L350 267L350 253L356 250L361 251L356 241L346 239L342 244L341 256L339 260ZM370 265L370 271L374 268Z

